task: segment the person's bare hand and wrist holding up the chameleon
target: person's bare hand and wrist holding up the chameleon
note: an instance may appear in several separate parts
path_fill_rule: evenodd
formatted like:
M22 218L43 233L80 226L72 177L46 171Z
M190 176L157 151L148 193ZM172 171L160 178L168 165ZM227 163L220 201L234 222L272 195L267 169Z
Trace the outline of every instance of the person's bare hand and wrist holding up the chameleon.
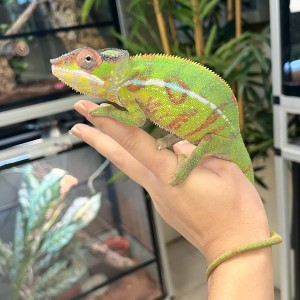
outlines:
M235 247L270 236L262 201L250 181L231 162L203 158L188 178L173 186L177 155L195 146L156 149L156 140L138 127L107 117L91 117L97 105L74 108L95 127L75 125L71 132L143 186L162 218L201 251L208 263ZM273 299L272 250L236 256L217 267L208 280L209 299Z

